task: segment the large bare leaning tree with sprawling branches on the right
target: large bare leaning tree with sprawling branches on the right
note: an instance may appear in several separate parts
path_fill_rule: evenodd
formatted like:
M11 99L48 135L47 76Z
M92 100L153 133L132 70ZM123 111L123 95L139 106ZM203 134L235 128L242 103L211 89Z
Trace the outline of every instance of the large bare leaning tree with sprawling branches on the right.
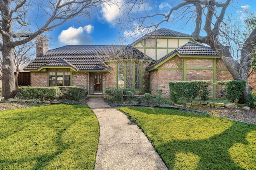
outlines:
M146 1L137 4L136 12L134 15L130 14L125 23L132 24L136 30L142 32L145 28L148 30L156 29L164 22L189 25L192 20L194 23L192 37L194 40L212 47L224 61L235 80L247 81L248 71L252 64L252 50L256 43L256 28L254 26L252 32L241 44L233 39L230 33L236 24L232 23L235 19L228 14L227 8L235 5L235 0L182 0L178 4L172 3L174 7L169 8L168 12L160 12L157 6L154 6L150 11L143 12L141 6L144 6L145 3ZM241 10L246 11L246 9ZM228 26L227 22L232 23L232 25ZM129 25L129 27L131 26ZM227 29L229 30L227 31ZM241 32L242 30L240 30ZM232 55L230 44L239 46L240 51L236 50L239 54L238 58ZM244 103L248 94L250 94L250 89L247 83L246 91L239 102Z

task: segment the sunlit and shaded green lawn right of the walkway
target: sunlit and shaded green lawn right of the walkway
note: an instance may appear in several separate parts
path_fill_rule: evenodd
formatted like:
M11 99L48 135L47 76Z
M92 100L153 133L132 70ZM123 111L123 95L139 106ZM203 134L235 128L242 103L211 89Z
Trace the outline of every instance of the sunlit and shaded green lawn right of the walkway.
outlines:
M175 109L120 107L169 169L255 170L256 126Z

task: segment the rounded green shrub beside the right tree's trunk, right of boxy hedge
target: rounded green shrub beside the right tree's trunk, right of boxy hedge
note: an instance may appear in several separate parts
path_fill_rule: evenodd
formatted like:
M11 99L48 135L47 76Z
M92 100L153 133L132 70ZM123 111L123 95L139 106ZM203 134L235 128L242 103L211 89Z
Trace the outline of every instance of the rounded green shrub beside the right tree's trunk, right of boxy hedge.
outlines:
M243 80L230 80L230 81L218 81L217 85L224 85L224 91L230 102L235 102L242 97L246 89L246 81Z

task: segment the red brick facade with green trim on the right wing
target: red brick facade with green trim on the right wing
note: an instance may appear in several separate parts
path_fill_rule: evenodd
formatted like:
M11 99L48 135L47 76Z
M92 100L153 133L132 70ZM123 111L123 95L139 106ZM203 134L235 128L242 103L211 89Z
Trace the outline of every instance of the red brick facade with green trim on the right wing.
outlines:
M150 72L150 91L154 89L162 89L162 97L169 97L169 82L170 81L193 81L193 80L210 80L214 81L214 60L215 59L191 59L186 60L175 56L178 65L174 59L170 59L160 65L158 69ZM183 67L186 62L186 68ZM221 69L221 70L218 70ZM216 81L222 80L232 80L231 74L223 70L226 69L222 60L218 59L216 64ZM184 76L184 70L186 71L186 76ZM211 85L211 94L213 95L213 87ZM216 85L216 96L220 96L222 87Z

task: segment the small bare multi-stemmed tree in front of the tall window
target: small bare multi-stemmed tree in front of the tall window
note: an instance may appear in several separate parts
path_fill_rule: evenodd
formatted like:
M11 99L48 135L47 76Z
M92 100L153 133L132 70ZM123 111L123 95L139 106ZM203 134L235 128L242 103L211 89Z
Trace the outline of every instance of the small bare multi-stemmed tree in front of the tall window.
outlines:
M118 77L119 88L140 89L141 75L146 74L146 67L153 61L150 57L131 45L110 45L99 49L102 68Z

